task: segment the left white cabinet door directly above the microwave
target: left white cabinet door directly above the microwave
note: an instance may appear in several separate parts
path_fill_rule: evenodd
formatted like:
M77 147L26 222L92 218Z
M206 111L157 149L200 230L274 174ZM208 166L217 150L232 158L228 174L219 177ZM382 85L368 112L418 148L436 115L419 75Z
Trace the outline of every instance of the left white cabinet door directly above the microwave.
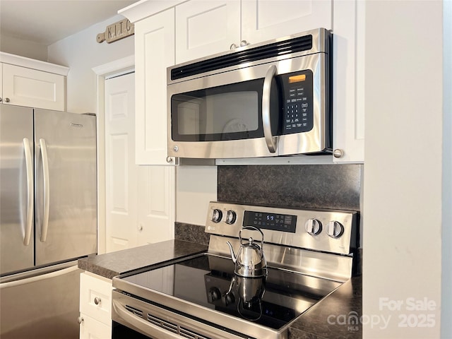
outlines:
M240 1L192 0L176 6L176 64L240 43Z

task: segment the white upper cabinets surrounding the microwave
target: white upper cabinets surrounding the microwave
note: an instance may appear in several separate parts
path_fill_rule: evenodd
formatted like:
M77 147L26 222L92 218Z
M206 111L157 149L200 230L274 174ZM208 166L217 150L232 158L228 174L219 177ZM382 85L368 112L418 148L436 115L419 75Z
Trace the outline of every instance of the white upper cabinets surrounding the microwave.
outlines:
M364 11L360 0L138 1L122 11L136 21L136 162L174 164L167 162L167 66L315 28L333 30L335 156L328 161L364 162Z

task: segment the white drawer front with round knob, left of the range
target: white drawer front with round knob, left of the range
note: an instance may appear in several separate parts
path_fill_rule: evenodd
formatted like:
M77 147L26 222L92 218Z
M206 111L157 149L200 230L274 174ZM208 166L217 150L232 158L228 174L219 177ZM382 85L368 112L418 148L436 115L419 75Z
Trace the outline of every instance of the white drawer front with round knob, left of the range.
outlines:
M80 275L80 311L110 326L112 323L112 281Z

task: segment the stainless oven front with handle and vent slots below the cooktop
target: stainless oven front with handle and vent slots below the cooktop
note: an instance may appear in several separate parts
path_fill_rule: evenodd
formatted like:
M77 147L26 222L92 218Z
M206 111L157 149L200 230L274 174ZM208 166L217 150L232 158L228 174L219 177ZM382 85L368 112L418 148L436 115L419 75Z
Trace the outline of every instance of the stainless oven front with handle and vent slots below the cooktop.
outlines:
M197 338L243 339L195 318L144 302L117 290L112 292L112 339ZM253 339L249 336L246 338ZM256 339L256 338L255 338Z

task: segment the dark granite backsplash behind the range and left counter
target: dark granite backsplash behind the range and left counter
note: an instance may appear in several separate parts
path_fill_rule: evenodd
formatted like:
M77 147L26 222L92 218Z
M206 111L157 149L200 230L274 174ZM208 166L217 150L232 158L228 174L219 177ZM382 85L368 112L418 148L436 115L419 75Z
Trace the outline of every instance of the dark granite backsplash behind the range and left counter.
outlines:
M355 164L218 166L217 200L360 211L362 171ZM175 239L208 244L203 225L174 226Z

